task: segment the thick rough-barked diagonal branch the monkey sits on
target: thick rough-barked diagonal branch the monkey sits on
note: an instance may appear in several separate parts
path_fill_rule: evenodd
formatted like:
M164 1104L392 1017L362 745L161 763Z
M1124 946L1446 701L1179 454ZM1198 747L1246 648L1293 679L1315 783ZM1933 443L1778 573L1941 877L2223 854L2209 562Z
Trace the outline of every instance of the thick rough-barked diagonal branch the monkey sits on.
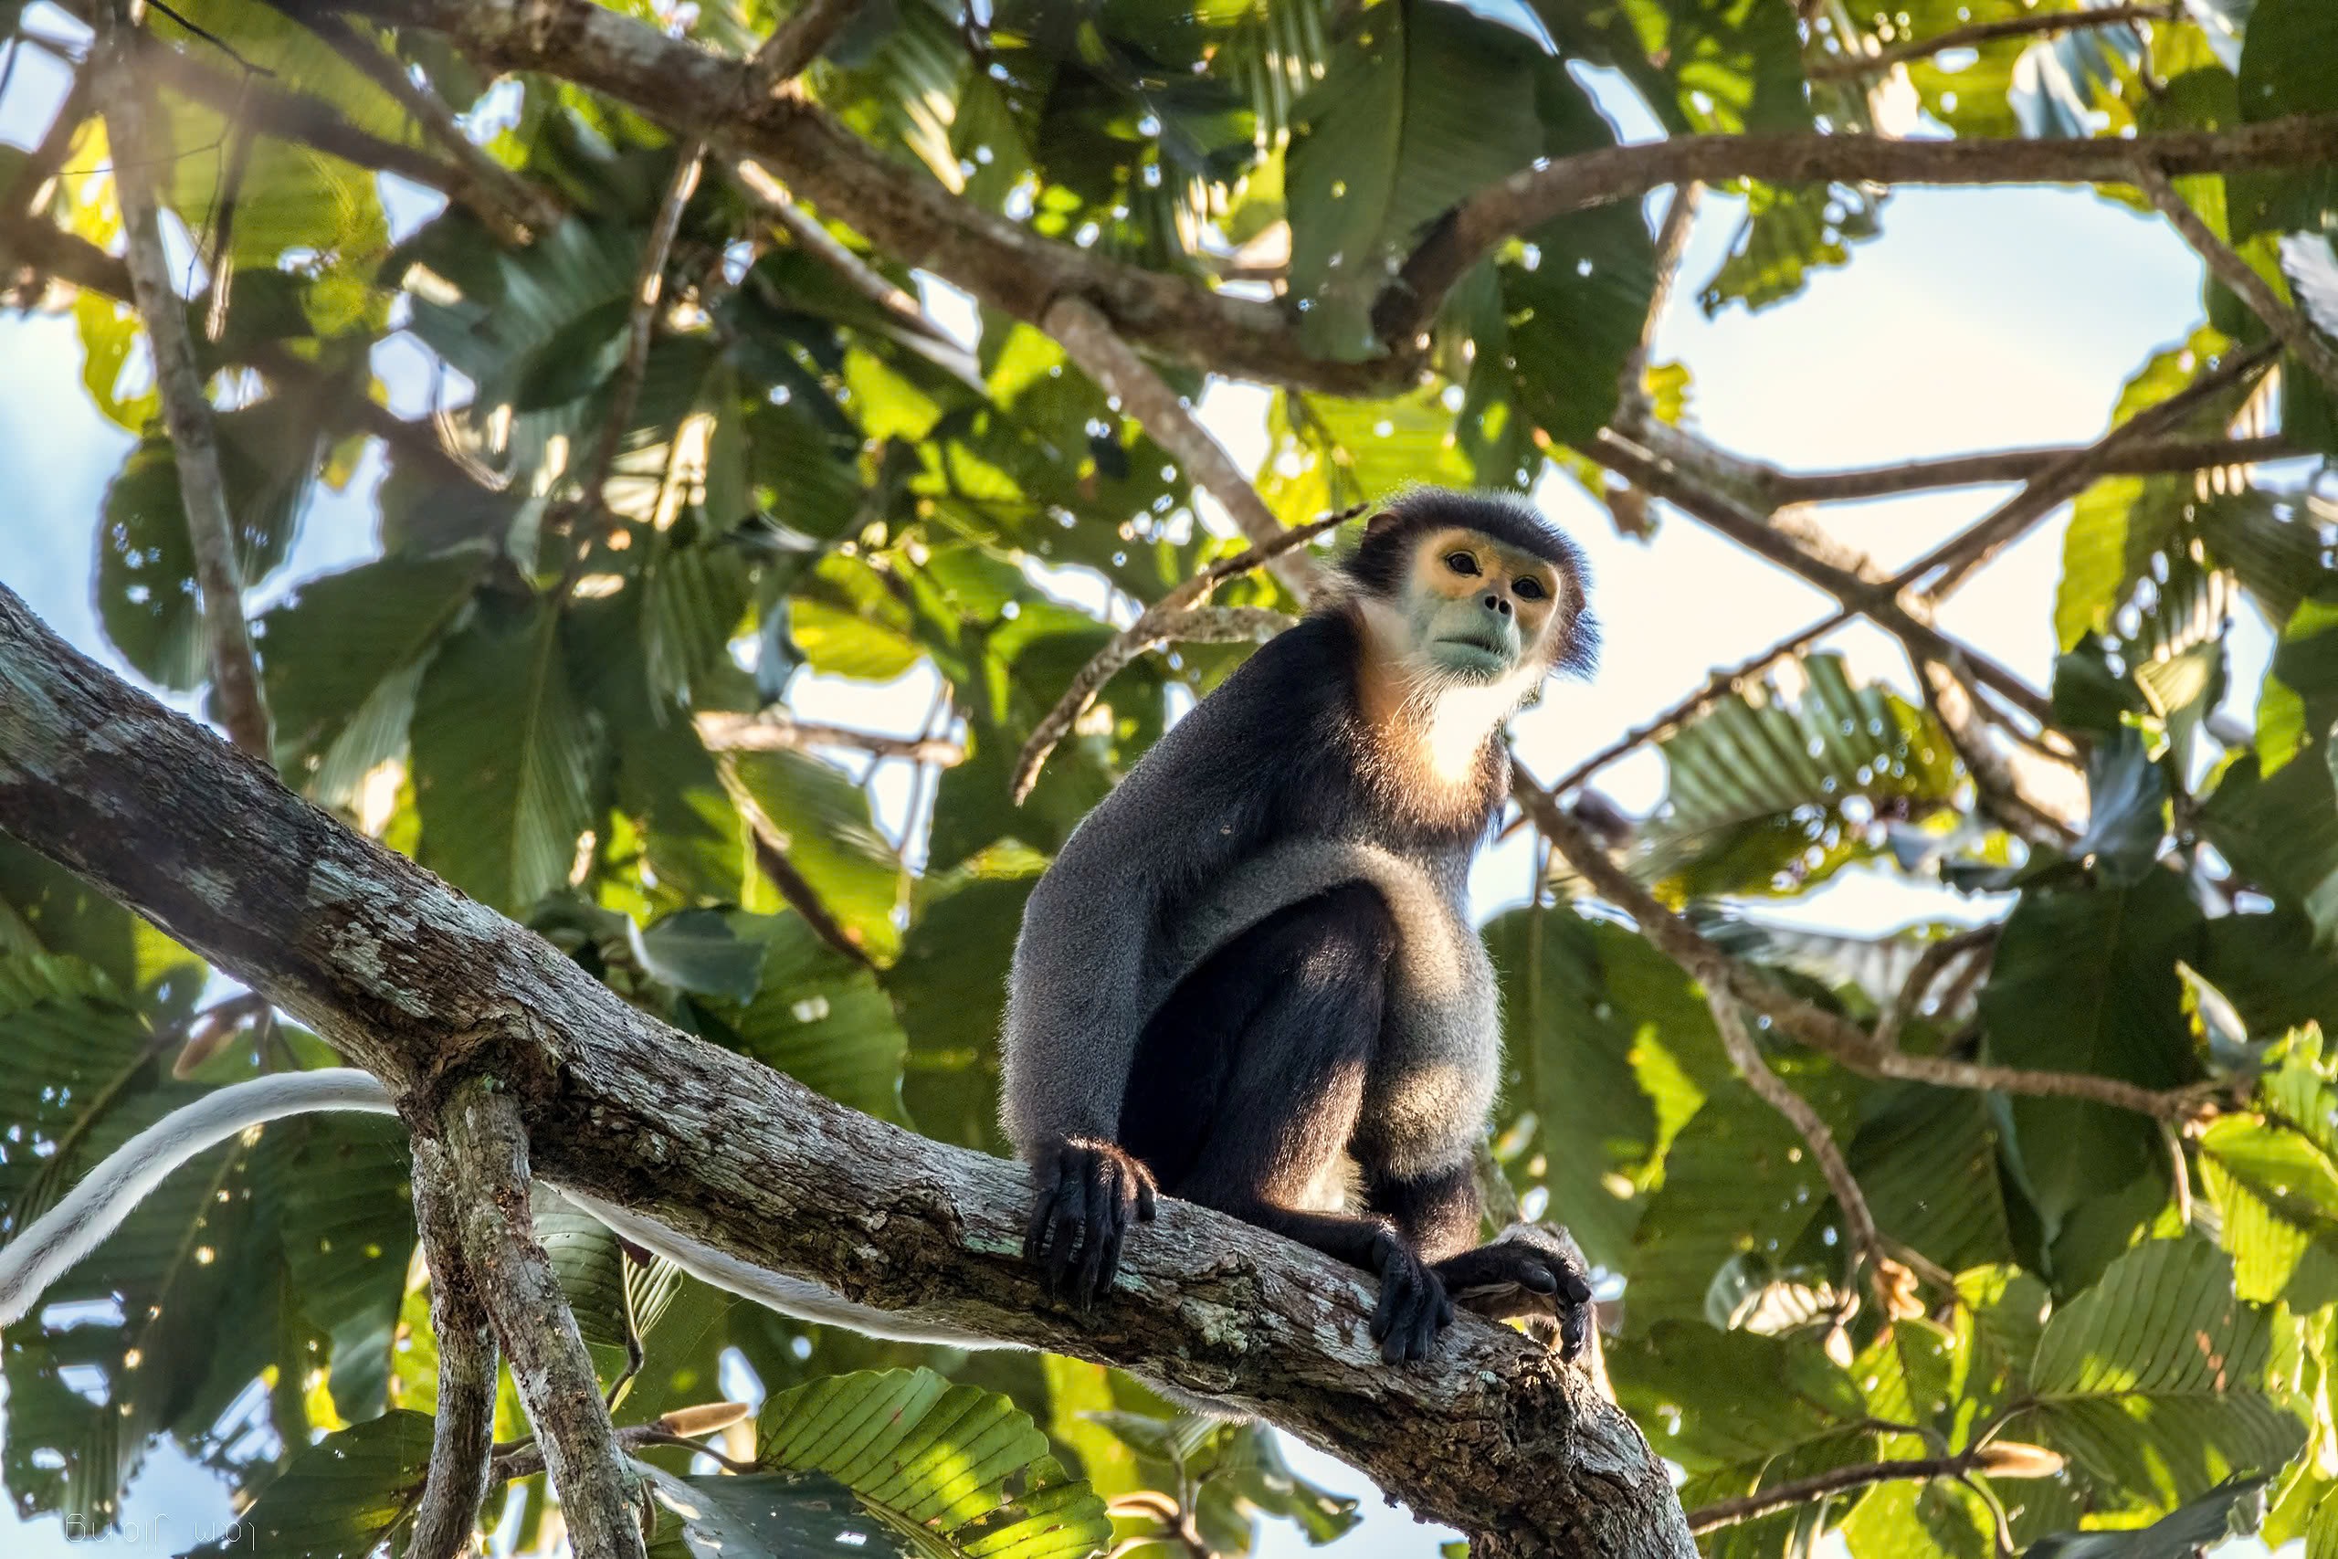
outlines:
M533 1169L849 1300L1253 1412L1480 1554L1693 1554L1665 1466L1590 1381L1461 1318L1386 1367L1363 1276L1178 1201L1094 1316L1022 1260L1019 1166L931 1143L629 1007L554 947L285 790L0 589L0 830L379 1075L409 1120L493 1078Z

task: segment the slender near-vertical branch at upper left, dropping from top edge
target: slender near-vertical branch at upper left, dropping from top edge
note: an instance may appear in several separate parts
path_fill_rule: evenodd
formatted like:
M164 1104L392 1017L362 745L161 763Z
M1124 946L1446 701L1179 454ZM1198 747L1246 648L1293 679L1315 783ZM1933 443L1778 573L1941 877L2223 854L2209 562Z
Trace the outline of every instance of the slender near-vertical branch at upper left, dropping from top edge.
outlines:
M203 636L210 640L210 687L220 722L236 746L269 757L269 706L260 690L260 661L243 622L243 568L236 561L236 521L220 477L220 430L210 421L203 369L187 334L187 309L171 285L171 262L161 245L154 178L159 143L147 115L152 103L138 75L136 0L98 0L98 44L89 63L96 101L105 112L105 138L115 161L115 194L122 203L122 245L138 316L154 353L154 390L178 458L178 493L187 512L194 552L194 584L203 596Z

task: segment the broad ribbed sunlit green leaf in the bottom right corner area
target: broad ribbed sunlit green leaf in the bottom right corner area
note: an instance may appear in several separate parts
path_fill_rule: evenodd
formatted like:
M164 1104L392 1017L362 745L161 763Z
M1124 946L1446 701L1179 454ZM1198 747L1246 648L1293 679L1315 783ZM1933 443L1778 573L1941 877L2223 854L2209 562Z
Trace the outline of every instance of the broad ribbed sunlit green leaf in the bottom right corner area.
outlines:
M2013 1423L2128 1498L2174 1503L2270 1473L2303 1442L2266 1384L2270 1325L2207 1241L2156 1239L2057 1309L2039 1337L2036 1407Z

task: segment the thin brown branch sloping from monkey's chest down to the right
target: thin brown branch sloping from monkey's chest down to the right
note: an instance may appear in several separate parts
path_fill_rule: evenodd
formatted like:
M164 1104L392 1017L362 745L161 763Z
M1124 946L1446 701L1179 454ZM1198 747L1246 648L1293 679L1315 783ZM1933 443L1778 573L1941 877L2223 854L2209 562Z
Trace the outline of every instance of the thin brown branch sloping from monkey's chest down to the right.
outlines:
M1599 898L1616 905L1641 928L1648 942L1688 970L1707 991L1728 991L1739 1003L1777 1024L1786 1038L1819 1049L1863 1078L1934 1082L1938 1087L1994 1089L2039 1099L2085 1099L2116 1110L2135 1110L2153 1120L2188 1120L2200 1113L2205 1089L2156 1092L2095 1078L2088 1073L2046 1073L2018 1066L1983 1066L1950 1056L1910 1056L1887 1052L1852 1019L1828 1012L1772 984L1765 975L1721 951L1704 933L1667 909L1632 874L1609 860L1609 853L1583 830L1559 802L1524 774L1515 774L1513 797L1550 846Z

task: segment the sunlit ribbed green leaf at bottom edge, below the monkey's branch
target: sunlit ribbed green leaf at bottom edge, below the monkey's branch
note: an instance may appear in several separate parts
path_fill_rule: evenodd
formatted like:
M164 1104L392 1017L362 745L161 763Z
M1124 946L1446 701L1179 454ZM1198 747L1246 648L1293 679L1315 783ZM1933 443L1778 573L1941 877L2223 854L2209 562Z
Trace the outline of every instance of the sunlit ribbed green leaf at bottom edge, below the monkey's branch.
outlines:
M825 1473L945 1554L1085 1559L1113 1538L1104 1501L1064 1475L1015 1402L928 1370L830 1374L779 1393L755 1442L760 1466Z

